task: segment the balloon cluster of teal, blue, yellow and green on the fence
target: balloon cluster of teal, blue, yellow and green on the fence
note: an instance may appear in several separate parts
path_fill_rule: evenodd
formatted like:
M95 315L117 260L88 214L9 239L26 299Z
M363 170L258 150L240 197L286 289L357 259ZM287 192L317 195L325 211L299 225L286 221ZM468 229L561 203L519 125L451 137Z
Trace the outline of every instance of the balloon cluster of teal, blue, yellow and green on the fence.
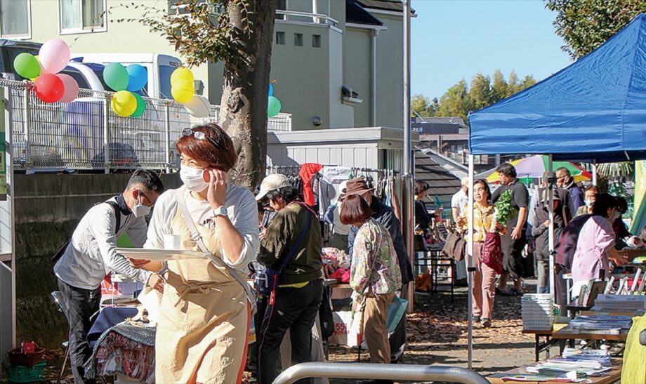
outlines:
M114 113L121 117L140 117L146 111L146 102L136 93L148 82L145 67L138 64L124 67L118 62L111 62L103 69L103 81L112 91L116 91L110 102Z

